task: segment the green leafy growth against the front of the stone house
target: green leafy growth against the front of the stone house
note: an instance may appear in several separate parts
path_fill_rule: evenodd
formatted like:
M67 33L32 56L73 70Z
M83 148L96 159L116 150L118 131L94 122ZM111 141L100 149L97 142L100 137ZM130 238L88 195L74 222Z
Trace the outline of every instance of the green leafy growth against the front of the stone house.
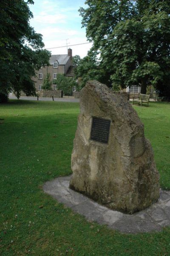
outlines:
M57 84L57 89L62 90L64 95L72 95L73 87L78 86L74 78L66 77L63 74L57 74L57 79L53 83Z

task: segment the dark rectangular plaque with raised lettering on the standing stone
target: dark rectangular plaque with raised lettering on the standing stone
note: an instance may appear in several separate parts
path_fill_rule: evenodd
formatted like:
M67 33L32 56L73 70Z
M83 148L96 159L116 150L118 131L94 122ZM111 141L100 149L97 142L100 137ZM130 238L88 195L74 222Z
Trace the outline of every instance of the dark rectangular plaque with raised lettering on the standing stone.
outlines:
M93 117L91 127L91 140L108 144L111 120Z

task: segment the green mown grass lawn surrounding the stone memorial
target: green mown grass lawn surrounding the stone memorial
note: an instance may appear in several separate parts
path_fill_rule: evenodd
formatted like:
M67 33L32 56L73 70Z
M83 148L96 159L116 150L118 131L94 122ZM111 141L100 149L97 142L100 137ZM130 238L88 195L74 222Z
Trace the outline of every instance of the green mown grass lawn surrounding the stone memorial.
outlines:
M134 106L170 190L170 104ZM71 174L79 104L10 101L0 104L0 256L165 256L170 228L121 234L88 222L42 190Z

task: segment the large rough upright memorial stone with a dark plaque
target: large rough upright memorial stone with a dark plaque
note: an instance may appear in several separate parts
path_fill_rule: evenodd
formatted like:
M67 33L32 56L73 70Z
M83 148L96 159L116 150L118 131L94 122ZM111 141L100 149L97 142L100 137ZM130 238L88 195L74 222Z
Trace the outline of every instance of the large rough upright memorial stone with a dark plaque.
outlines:
M134 213L159 199L159 173L144 126L125 97L89 81L82 89L70 187Z

